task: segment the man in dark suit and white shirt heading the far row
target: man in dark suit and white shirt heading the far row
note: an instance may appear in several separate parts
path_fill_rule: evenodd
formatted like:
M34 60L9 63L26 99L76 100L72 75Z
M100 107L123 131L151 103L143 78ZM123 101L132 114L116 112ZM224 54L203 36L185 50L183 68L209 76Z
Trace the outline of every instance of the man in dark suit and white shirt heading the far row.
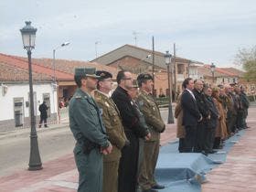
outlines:
M202 121L202 115L197 108L197 101L192 90L194 89L194 81L187 78L183 81L184 91L181 96L181 106L183 109L182 125L185 126L186 137L184 152L190 153L194 151L197 133L197 123Z

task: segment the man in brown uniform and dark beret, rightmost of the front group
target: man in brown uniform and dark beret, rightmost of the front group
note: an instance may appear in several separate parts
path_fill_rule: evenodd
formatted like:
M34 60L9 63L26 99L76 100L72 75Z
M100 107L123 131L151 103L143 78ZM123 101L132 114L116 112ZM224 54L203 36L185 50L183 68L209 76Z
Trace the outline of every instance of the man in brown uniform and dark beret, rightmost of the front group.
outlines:
M151 139L144 142L144 161L141 174L139 176L139 185L144 191L155 192L155 189L162 189L156 183L154 172L159 154L160 133L165 131L165 123L161 118L160 111L155 103L151 93L153 91L153 77L150 74L140 74L137 78L140 87L140 93L137 99L141 112L144 113Z

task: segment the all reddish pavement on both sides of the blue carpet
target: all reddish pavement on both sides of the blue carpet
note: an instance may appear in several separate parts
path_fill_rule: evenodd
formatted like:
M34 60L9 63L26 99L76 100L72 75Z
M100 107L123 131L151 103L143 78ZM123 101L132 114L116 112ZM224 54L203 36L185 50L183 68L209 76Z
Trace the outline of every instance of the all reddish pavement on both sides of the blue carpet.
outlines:
M256 108L250 112L250 129L234 144L227 161L208 173L203 192L256 191ZM28 133L28 132L27 132ZM176 140L176 125L166 126L161 145ZM62 156L43 165L40 171L19 170L11 176L0 177L0 191L11 192L75 192L78 173L72 154ZM159 190L161 192L161 190ZM188 191L189 192L189 191Z

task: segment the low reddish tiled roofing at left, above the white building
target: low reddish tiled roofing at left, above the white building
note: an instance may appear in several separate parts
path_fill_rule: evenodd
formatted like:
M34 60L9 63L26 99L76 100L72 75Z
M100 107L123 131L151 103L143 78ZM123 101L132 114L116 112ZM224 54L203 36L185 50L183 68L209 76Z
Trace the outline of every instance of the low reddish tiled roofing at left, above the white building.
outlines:
M54 76L53 59L32 59L33 80L52 80ZM0 53L0 63L5 64L6 69L1 69L1 80L28 80L27 58L10 56ZM56 59L56 79L57 80L74 80L74 69L78 67L96 68L99 70L107 70L112 72L116 77L118 69L104 66L95 62ZM10 72L8 72L10 71ZM15 72L11 72L15 71ZM6 73L6 74L4 74ZM7 75L9 74L10 75ZM16 75L11 75L11 74ZM20 77L19 77L20 76Z

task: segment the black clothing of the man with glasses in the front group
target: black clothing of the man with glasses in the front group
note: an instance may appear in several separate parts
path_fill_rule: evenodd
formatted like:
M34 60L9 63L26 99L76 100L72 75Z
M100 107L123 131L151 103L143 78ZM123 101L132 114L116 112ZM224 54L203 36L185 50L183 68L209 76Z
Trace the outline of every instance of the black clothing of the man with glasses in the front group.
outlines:
M112 100L115 102L121 114L124 133L130 141L130 145L122 149L122 157L119 165L118 191L135 192L137 187L139 138L144 138L149 131L140 122L137 108L127 91L118 86L112 93Z

